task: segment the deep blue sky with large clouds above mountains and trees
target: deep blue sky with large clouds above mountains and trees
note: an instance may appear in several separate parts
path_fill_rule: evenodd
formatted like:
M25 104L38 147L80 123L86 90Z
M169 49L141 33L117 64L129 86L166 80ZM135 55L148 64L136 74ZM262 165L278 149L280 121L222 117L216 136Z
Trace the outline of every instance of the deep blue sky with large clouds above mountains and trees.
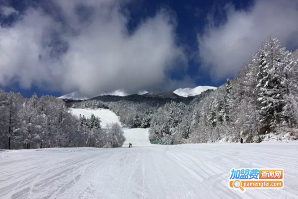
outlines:
M0 88L218 87L270 34L297 49L297 21L297 0L0 0Z

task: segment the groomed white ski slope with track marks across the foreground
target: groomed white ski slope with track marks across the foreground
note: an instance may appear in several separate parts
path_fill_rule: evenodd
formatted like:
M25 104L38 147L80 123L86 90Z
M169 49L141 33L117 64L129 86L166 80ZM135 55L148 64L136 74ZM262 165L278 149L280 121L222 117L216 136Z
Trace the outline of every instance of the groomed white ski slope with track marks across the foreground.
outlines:
M0 151L0 199L297 199L297 143L160 146L148 129L124 131L116 149ZM284 189L229 189L242 167L283 168Z

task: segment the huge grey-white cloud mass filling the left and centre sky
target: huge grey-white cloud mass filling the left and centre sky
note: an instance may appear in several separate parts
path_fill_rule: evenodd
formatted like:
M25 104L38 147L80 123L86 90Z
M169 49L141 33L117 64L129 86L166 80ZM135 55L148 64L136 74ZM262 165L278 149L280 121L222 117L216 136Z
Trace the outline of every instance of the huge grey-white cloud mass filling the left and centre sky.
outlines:
M17 81L24 88L43 85L89 96L118 89L133 93L174 85L168 71L186 65L165 10L129 33L124 1L52 2L63 20L28 8L11 27L0 27L1 86Z

